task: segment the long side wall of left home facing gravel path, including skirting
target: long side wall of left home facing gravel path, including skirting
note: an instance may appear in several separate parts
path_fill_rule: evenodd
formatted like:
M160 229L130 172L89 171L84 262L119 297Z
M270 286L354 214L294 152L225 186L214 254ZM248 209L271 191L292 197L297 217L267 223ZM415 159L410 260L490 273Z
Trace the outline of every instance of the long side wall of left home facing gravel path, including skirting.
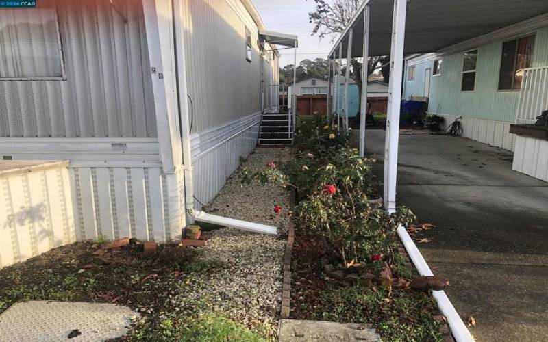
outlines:
M271 79L277 81L278 66L277 59L266 62L261 57L259 27L239 0L185 1L184 23L192 181L197 200L206 204L238 168L240 157L256 146L261 75L265 86ZM245 59L246 27L251 32L251 62ZM268 87L264 91L266 105L272 98L266 94ZM195 207L201 207L199 202Z

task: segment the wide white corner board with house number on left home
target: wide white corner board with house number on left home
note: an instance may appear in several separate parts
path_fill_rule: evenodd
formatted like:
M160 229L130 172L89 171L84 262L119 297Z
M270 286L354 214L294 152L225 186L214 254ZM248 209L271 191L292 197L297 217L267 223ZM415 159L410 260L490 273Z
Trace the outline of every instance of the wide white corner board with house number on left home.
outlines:
M171 1L143 0L142 6L147 31L160 159L164 172L173 173L175 166L182 164L173 49L173 9Z

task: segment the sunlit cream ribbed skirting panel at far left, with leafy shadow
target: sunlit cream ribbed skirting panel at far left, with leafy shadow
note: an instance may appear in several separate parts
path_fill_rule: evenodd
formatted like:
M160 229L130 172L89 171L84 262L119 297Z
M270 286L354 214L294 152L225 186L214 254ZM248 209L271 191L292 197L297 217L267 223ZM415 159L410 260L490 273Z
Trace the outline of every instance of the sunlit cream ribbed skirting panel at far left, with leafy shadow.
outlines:
M0 268L76 241L67 164L0 174Z

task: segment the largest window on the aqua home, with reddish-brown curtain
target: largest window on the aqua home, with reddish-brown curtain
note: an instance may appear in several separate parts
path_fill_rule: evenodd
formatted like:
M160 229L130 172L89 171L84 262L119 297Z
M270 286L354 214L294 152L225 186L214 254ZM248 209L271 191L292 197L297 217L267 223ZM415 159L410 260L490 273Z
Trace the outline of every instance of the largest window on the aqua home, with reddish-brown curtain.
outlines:
M499 90L521 88L523 69L530 68L533 62L535 36L527 36L502 44Z

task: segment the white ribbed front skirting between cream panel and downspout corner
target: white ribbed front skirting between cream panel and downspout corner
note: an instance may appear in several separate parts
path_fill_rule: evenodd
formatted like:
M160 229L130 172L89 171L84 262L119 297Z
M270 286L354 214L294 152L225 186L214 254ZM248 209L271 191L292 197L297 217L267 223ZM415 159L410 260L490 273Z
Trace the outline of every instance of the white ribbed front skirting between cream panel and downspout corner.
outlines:
M171 241L184 222L183 172L162 168L71 168L78 240Z

